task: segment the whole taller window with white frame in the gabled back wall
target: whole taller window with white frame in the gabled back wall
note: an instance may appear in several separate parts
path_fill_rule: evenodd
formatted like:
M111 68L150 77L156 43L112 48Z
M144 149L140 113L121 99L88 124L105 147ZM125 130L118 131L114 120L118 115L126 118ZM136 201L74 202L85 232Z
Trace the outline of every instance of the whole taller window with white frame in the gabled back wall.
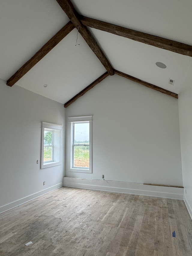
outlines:
M92 172L92 116L69 117L71 122L70 171Z

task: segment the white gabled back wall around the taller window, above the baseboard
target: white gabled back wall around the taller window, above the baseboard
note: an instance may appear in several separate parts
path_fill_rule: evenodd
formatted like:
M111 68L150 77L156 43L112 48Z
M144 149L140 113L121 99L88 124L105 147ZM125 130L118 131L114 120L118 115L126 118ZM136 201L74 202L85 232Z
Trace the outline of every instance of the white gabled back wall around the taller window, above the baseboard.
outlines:
M93 115L93 172L70 172L67 117ZM107 77L66 109L67 177L182 185L178 100Z

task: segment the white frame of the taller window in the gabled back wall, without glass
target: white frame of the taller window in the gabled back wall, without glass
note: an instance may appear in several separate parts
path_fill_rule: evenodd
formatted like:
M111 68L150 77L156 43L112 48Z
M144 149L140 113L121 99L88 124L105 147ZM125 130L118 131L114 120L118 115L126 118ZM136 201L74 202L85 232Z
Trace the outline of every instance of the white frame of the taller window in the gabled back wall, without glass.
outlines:
M68 117L71 123L70 134L70 171L79 173L92 173L92 116L75 116ZM89 123L89 167L73 167L73 139L74 139L74 123Z

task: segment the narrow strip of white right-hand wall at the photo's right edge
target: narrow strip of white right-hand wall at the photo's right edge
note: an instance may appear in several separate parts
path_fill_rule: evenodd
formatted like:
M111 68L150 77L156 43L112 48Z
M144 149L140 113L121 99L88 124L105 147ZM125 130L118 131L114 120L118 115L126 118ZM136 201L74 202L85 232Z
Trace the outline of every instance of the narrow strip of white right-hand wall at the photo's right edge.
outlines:
M192 60L179 93L179 123L181 133L184 200L192 218ZM186 192L185 192L186 190Z

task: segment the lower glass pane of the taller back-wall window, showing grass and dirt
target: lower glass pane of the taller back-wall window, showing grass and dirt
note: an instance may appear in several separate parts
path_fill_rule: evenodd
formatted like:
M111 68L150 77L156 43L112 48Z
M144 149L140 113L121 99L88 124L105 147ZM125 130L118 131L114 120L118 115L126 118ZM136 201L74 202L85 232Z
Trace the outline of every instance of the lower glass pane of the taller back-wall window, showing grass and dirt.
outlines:
M89 167L89 146L74 146L74 167Z

